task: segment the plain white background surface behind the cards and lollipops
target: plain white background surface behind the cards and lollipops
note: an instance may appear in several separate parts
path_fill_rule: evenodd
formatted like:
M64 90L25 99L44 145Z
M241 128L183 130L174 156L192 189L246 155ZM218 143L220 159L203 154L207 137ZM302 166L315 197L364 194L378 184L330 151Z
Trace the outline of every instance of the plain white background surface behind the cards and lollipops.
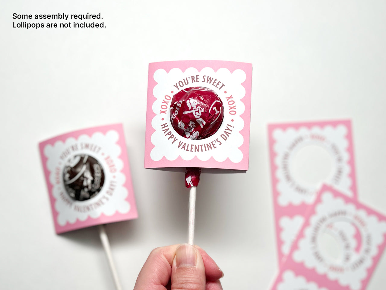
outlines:
M107 28L12 28L12 13L102 13ZM202 174L195 243L224 289L268 289L277 270L268 122L351 118L359 200L386 213L386 2L8 1L0 9L0 287L114 289L96 227L54 234L37 143L124 123L138 220L107 225L122 287L149 252L186 242L182 173L144 169L147 66L251 62L250 165ZM386 255L368 289L386 284Z

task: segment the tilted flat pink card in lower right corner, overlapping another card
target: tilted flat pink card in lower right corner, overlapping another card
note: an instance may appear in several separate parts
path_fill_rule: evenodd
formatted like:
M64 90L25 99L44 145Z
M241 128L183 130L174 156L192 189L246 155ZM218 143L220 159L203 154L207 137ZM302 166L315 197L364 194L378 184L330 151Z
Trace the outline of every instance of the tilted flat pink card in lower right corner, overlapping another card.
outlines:
M364 290L386 245L386 217L324 185L273 290Z

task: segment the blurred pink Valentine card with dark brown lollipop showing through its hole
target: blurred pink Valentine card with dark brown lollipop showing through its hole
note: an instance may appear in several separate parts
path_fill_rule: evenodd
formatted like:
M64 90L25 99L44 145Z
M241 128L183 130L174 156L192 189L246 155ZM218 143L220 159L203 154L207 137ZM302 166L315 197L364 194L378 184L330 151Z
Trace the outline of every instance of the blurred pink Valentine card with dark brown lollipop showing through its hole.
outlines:
M57 234L138 217L122 124L39 144Z

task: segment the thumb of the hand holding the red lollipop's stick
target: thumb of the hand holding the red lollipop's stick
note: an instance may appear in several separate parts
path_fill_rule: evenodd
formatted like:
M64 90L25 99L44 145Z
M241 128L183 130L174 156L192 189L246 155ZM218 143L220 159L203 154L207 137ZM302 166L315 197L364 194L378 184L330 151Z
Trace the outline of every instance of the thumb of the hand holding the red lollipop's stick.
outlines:
M205 290L205 267L200 252L189 244L176 250L171 271L171 290Z

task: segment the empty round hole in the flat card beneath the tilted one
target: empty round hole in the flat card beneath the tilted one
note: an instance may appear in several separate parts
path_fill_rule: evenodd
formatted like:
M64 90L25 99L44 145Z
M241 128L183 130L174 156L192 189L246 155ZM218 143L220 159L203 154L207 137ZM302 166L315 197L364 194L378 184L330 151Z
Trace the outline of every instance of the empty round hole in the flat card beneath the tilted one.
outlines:
M296 180L318 184L328 179L333 170L331 155L323 147L308 145L293 157L292 171Z

